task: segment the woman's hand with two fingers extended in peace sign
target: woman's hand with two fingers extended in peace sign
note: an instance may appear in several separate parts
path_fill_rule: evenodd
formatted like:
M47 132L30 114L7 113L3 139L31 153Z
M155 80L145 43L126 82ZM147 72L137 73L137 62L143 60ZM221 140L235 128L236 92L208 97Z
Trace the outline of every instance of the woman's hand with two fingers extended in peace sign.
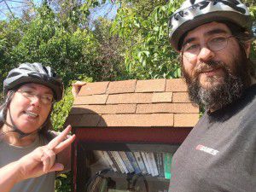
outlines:
M55 155L73 143L75 135L64 140L69 131L71 131L70 125L47 145L36 148L30 154L26 154L20 158L18 160L20 165L20 180L39 177L47 172L62 171L64 166L55 162Z

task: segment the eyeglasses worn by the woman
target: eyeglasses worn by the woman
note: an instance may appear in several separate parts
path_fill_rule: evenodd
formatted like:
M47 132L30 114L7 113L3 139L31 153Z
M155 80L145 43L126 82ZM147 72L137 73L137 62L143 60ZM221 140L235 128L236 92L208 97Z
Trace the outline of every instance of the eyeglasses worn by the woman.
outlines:
M54 97L51 94L38 95L34 90L29 90L29 89L21 89L21 90L17 90L17 92L20 92L22 96L25 96L30 100L32 100L35 97L38 97L38 99L44 105L49 105L54 102Z

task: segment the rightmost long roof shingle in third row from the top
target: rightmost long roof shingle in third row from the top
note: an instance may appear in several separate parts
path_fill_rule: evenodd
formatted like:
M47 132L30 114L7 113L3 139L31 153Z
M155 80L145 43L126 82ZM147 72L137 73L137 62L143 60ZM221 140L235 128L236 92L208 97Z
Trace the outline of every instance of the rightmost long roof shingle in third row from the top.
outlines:
M137 104L136 113L199 113L192 103Z

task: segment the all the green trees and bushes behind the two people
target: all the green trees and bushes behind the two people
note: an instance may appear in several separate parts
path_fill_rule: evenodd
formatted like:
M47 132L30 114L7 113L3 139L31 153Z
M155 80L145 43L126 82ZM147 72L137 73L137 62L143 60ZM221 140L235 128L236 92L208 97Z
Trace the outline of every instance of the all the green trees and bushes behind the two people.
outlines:
M63 78L64 98L55 103L51 117L55 131L63 129L73 104L73 80L180 77L178 55L169 44L167 26L181 1L116 0L119 7L116 17L98 18L93 24L90 24L92 10L106 1L55 2L55 6L49 6L44 1L32 15L27 14L26 20L0 21L1 83L10 69L26 61L49 65ZM256 20L255 1L244 2ZM251 53L255 60L256 41ZM2 93L3 86L0 87ZM56 179L55 191L71 191L71 181L70 174L62 174Z

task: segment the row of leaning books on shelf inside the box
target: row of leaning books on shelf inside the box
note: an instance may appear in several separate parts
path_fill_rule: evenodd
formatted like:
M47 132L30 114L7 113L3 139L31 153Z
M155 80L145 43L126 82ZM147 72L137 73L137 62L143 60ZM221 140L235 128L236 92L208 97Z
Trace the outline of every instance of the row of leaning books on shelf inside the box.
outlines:
M94 151L96 158L113 172L148 174L153 177L171 178L171 153L145 151Z

